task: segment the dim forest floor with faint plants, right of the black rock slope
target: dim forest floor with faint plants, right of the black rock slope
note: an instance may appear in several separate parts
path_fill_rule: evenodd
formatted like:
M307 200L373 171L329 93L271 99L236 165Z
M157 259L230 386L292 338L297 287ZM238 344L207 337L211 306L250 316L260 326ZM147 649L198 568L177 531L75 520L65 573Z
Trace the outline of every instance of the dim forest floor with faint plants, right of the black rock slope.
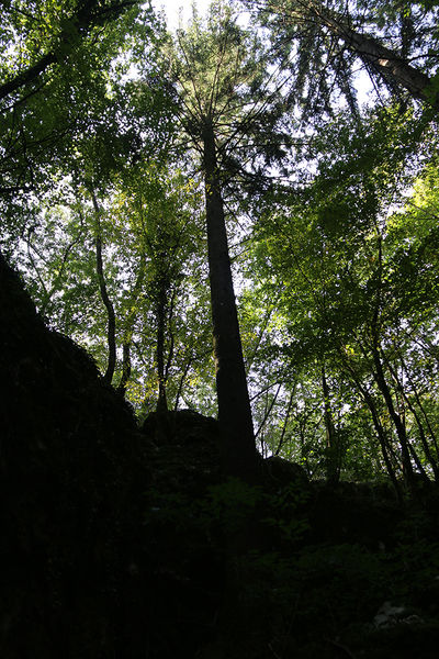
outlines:
M183 639L194 657L437 656L435 490L401 506L386 483L328 487L268 465L258 487L224 482L212 468L214 443L200 450L209 446L205 420L192 423L192 436L181 429L181 444L150 459L149 560L155 590L166 593L154 625L160 656ZM227 538L241 528L230 558ZM228 569L237 592L225 585ZM169 619L176 637L166 633Z

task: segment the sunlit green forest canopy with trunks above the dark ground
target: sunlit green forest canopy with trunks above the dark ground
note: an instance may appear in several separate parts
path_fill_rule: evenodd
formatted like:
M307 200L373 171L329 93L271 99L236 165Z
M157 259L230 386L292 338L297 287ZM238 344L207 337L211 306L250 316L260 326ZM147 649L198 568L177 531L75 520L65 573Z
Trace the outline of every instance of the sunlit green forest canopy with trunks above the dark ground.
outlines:
M232 472L439 478L438 12L3 2L1 252L142 420L218 414Z

